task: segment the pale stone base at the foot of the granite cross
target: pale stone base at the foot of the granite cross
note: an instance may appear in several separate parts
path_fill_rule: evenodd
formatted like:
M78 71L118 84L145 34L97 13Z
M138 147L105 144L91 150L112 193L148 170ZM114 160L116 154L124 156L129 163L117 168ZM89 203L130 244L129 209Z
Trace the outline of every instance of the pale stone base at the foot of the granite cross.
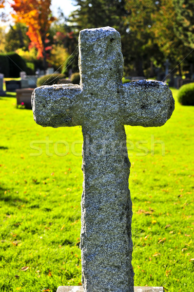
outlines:
M57 292L83 292L82 286L59 286ZM163 287L134 287L134 292L164 292Z

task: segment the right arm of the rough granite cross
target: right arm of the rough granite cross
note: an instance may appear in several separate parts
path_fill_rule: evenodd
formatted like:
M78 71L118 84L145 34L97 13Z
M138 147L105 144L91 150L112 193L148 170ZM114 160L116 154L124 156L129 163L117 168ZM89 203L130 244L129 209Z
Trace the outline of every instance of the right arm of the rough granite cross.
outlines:
M170 119L175 109L172 92L161 81L126 83L119 87L118 93L124 125L159 127Z

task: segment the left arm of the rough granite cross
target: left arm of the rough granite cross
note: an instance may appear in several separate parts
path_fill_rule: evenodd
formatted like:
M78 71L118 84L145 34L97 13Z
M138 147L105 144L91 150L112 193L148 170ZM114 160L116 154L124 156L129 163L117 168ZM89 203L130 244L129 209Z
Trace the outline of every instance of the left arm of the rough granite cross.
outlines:
M74 84L41 86L32 94L34 120L42 127L81 125L81 87Z

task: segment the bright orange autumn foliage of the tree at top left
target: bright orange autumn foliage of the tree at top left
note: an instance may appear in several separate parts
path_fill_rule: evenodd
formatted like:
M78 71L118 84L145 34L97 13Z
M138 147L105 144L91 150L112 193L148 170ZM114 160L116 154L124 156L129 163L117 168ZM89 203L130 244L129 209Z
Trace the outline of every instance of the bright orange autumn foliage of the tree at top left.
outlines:
M37 48L38 56L44 60L46 69L46 40L51 23L55 20L50 10L51 0L14 0L13 18L25 23L28 27L27 35L31 43Z

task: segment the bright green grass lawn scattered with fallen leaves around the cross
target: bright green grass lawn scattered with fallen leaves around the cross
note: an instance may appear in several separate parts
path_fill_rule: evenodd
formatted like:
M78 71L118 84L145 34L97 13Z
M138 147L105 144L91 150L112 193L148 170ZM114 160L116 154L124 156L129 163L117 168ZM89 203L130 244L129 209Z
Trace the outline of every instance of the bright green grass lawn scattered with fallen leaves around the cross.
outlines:
M125 127L133 267L135 286L193 292L194 107L176 94L163 127ZM42 128L0 97L0 132L0 292L81 285L81 128Z

